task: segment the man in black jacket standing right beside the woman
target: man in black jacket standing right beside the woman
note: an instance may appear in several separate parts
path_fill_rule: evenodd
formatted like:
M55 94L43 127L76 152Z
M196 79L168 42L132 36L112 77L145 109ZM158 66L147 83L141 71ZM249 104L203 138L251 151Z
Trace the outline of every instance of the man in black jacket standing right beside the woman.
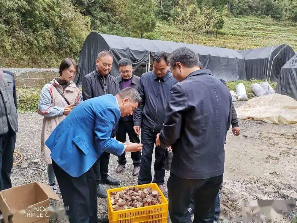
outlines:
M116 95L120 91L117 79L109 74L112 62L113 55L110 51L105 50L98 54L96 60L97 69L83 78L83 100L106 94ZM109 153L104 152L93 166L97 180L97 196L102 198L107 197L102 183L110 185L119 185L121 183L120 180L113 179L108 175L109 156Z

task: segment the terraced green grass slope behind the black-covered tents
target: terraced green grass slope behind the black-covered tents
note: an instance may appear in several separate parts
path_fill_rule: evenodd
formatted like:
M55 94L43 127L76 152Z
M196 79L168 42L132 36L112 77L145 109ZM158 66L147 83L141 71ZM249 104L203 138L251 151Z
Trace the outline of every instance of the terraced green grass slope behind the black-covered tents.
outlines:
M273 44L277 36L281 34L290 34L280 37L276 44L287 44L294 37L297 37L297 23L289 21L275 21L269 17L243 17L225 18L225 25L219 30L218 38L207 34L195 34L193 32L185 32L170 25L168 22L159 21L153 33L145 35L146 37L156 38L165 41L175 41L184 43L194 43L206 46L219 46L223 48L249 49L257 47L265 47ZM297 40L290 43L290 46L297 51Z

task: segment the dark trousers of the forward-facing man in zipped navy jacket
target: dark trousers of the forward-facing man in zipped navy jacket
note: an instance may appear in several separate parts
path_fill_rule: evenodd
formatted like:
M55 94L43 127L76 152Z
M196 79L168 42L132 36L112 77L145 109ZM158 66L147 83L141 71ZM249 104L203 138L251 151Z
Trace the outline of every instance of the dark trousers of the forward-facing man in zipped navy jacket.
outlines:
M153 132L146 128L141 130L141 143L142 143L142 155L141 155L141 164L140 171L138 175L138 184L151 183L151 159L153 156L154 145L156 142L157 134L159 132ZM154 180L153 183L158 185L164 184L165 169L163 167L165 149L160 146L155 148L155 163L154 163Z

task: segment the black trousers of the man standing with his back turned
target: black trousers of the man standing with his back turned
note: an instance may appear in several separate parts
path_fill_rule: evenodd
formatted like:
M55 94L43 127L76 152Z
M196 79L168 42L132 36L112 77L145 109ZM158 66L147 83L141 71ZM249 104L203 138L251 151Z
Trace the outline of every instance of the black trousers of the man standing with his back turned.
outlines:
M170 173L167 188L171 222L192 223L187 208L194 197L194 223L213 223L213 204L222 182L223 175L202 180L190 180Z

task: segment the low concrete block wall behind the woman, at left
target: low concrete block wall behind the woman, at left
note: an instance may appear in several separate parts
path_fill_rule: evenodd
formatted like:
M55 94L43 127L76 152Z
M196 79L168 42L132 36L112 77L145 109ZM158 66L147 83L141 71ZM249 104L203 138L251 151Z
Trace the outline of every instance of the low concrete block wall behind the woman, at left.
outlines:
M0 68L14 73L16 87L43 87L60 76L58 68Z

